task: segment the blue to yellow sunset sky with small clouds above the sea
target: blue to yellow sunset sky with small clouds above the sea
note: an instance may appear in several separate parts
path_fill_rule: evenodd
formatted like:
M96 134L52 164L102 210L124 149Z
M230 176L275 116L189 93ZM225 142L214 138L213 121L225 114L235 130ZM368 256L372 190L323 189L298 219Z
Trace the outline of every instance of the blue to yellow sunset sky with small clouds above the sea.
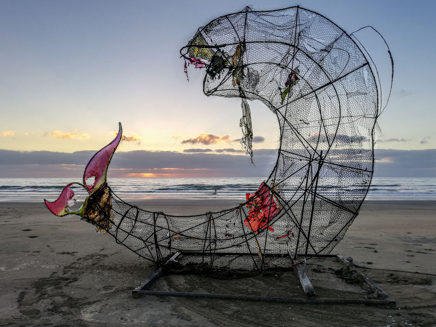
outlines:
M204 70L191 66L187 82L179 54L198 27L246 5L252 5L254 10L300 5L323 14L348 33L367 25L375 27L388 42L395 61L391 99L378 120L378 149L407 150L402 157L419 160L416 153L422 152L415 150L436 148L434 1L415 1L411 5L401 0L3 0L0 149L11 150L3 152L3 156L12 157L14 151L44 150L47 158L54 160L50 164L48 159L44 169L42 164L20 161L14 165L29 166L21 166L21 173L15 169L14 174L60 177L66 168L54 167L58 152L99 150L113 139L118 122L122 122L126 136L118 152L183 154L191 161L178 168L186 170L200 169L194 168L198 160L208 167L207 157L215 161L220 158L218 161L224 163L236 160L241 167L249 165L249 157L241 154L238 142L242 136L240 101L205 96ZM378 65L383 95L387 94L390 66L384 44L371 31L355 35ZM279 131L275 116L260 102L251 102L250 106L256 141L253 148L276 149ZM27 153L28 160L31 153ZM235 158L225 159L231 156ZM59 165L81 166L87 162L86 158L85 162L76 162L73 157ZM386 163L398 158L380 160L385 159ZM148 176L151 173L146 169L170 168L168 161L156 160L156 167L149 168L134 168L133 161L126 162L124 167L136 170L114 174ZM274 161L262 160L259 154L262 167L250 168L250 174L263 174ZM0 177L11 176L12 168L0 165ZM184 176L191 176L195 172L185 173ZM202 174L248 173L235 168L232 173L216 170Z

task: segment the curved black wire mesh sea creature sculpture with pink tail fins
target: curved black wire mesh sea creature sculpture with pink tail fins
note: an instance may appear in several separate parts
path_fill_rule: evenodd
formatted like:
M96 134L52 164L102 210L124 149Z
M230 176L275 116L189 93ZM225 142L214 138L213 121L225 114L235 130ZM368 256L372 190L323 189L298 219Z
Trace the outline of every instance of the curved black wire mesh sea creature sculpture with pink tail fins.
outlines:
M44 200L48 209L80 215L160 266L176 252L195 255L184 267L198 272L289 268L301 257L329 254L358 215L373 173L380 97L364 53L313 11L246 7L200 27L181 55L186 73L189 65L206 68L205 95L242 99L242 146L251 157L247 100L276 114L277 161L258 191L235 208L196 216L127 204L106 183L120 123L116 138L85 168L80 185L89 196L82 207L70 211L69 184L58 200ZM95 177L90 186L89 177Z

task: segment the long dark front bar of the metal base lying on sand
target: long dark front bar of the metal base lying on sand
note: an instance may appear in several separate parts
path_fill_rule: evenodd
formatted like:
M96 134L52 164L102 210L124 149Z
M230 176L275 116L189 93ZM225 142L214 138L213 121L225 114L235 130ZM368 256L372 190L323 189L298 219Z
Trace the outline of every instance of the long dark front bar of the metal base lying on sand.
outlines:
M310 299L294 299L291 297L275 297L275 296L160 292L160 291L141 291L141 290L138 290L137 293L142 295L152 295L152 296L201 297L204 299L249 300L249 301L283 302L283 303L298 303L298 304L365 304L365 305L372 305L372 306L392 305L392 301L388 301L388 300L367 300L367 299L310 300Z

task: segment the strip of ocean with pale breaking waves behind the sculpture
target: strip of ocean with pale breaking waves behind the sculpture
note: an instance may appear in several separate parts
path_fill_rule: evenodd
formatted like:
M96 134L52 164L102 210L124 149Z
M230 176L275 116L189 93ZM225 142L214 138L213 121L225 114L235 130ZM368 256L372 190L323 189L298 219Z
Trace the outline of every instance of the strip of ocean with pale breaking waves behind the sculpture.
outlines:
M0 201L38 202L58 198L71 178L0 178ZM263 178L108 178L112 190L123 200L141 198L234 198L256 191ZM215 194L214 188L217 188ZM75 192L85 199L82 187ZM327 187L320 192L326 192ZM374 178L367 199L436 200L436 178Z

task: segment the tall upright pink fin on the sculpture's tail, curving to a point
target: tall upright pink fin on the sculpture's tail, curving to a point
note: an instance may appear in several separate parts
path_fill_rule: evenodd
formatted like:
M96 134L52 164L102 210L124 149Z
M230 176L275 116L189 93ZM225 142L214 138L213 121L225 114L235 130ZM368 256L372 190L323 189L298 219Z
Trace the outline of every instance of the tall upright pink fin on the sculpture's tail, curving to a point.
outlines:
M106 181L106 174L110 160L112 159L113 153L118 147L119 141L121 141L121 136L123 135L123 127L121 126L121 123L118 124L119 130L115 139L99 152L95 153L86 165L85 172L83 173L83 184L90 193L94 192ZM86 180L90 177L95 177L94 184L91 186L86 184Z

